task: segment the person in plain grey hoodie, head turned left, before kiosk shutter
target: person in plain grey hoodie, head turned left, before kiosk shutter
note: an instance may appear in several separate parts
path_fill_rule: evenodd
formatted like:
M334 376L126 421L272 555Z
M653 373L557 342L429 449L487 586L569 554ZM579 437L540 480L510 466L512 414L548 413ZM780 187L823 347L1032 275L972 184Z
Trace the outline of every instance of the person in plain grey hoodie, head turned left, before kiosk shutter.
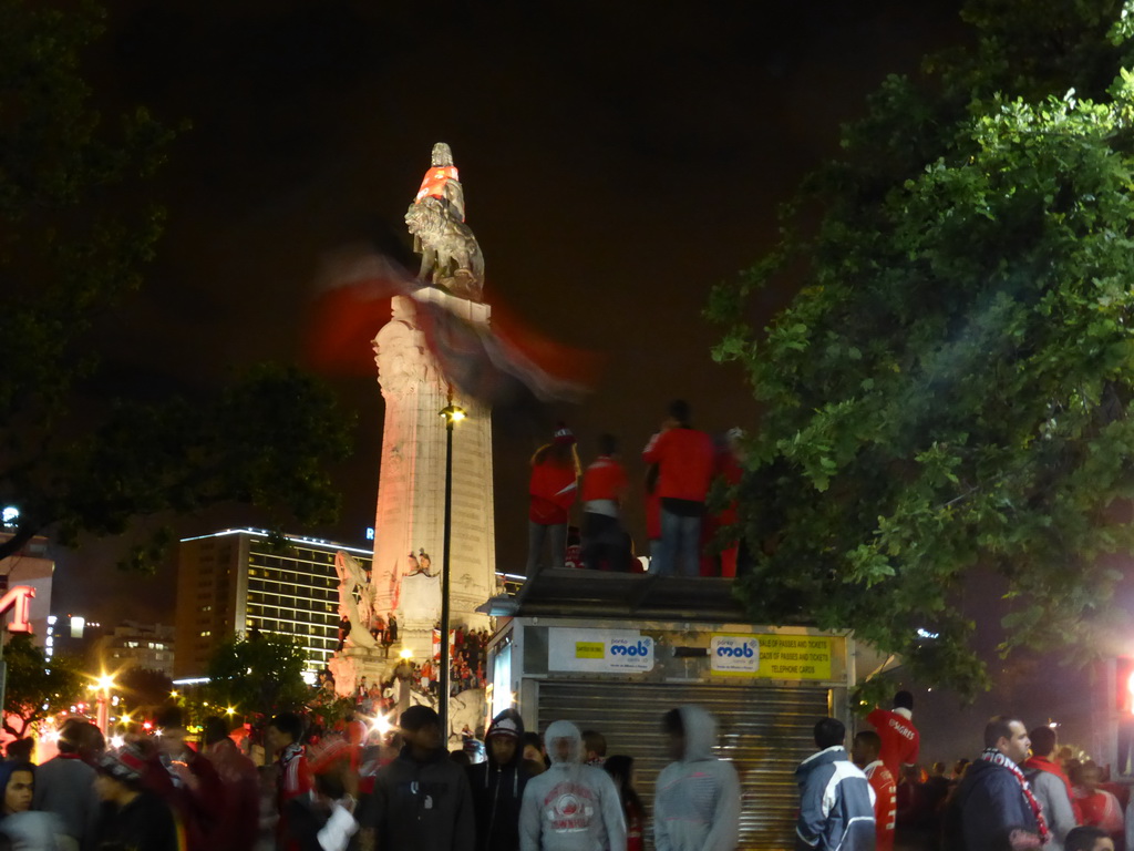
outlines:
M670 762L653 794L657 851L733 851L739 834L741 781L731 762L712 755L717 721L700 706L662 718Z

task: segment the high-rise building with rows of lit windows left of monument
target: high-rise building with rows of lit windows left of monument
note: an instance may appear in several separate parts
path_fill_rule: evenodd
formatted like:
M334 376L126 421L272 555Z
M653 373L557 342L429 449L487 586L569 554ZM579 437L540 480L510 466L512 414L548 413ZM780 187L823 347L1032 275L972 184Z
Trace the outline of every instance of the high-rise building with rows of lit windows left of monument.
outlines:
M228 529L181 541L176 676L203 676L219 644L253 629L297 638L308 671L327 665L338 647L335 553L349 553L367 571L372 554L315 538L285 538L279 546L265 531Z

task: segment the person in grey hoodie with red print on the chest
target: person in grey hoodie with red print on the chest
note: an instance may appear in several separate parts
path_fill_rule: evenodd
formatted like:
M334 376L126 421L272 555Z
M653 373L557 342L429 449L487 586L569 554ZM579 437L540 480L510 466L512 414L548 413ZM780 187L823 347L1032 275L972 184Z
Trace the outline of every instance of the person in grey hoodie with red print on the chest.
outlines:
M578 727L557 721L543 741L551 767L524 790L519 851L625 851L618 789L604 770L583 765Z

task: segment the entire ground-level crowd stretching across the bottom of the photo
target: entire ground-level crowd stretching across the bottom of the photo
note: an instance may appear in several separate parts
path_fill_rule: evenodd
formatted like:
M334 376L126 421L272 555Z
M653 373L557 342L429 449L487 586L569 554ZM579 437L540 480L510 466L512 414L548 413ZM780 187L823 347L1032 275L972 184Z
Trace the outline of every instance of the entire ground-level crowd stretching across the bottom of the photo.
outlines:
M840 721L815 723L816 751L795 769L796 851L1134 849L1128 789L1060 749L1049 726L992 718L976 759L924 772L908 692L866 721L849 751ZM600 731L557 721L540 736L514 709L493 718L483 760L449 753L423 705L390 741L355 719L316 738L284 713L265 727L260 768L219 717L196 743L178 707L156 722L108 748L70 719L39 766L27 740L10 743L0 850L644 851L648 816L657 851L733 851L741 835L737 768L713 756L716 721L697 706L657 719L670 762L649 811L634 758L608 757Z

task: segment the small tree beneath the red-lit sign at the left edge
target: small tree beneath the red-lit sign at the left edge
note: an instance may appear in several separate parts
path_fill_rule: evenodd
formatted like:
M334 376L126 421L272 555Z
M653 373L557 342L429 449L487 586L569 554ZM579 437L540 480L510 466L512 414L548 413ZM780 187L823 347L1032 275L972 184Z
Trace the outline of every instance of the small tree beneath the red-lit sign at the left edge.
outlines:
M48 716L90 697L78 663L57 654L49 666L31 635L12 635L3 648L3 660L8 666L3 728L17 739Z

